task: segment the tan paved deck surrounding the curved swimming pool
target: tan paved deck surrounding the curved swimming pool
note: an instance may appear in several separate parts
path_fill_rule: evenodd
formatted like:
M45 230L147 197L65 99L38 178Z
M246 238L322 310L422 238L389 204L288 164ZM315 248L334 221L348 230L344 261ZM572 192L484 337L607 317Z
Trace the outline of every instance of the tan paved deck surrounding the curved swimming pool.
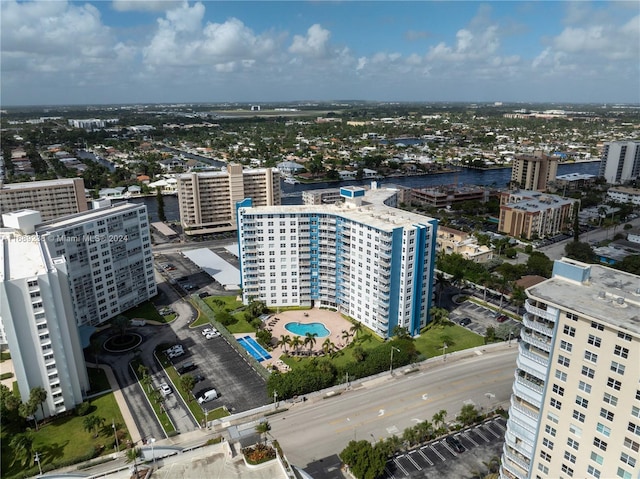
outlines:
M280 339L283 335L288 335L293 338L294 336L298 336L301 340L304 340L304 335L296 335L291 331L285 329L284 325L287 323L301 323L301 324L309 324L309 323L322 323L329 330L329 336L325 336L323 338L316 338L316 344L311 349L313 353L321 353L322 352L322 343L329 338L333 344L335 344L336 349L342 349L347 346L348 343L345 343L345 340L342 338L342 331L349 331L352 323L347 321L342 317L340 313L329 311L326 309L306 309L306 310L293 310L293 311L283 311L280 313L274 313L271 315L269 319L266 321L267 329L271 330L271 334L273 335L274 341ZM255 337L255 334L236 334L236 337L243 336L252 336ZM309 351L308 346L300 346L298 348L300 352ZM292 348L287 346L287 351L292 352ZM276 366L281 371L287 371L288 366L284 364L280 360L280 356L284 354L284 346L276 346L271 351L271 359L266 359L260 362L264 367Z

